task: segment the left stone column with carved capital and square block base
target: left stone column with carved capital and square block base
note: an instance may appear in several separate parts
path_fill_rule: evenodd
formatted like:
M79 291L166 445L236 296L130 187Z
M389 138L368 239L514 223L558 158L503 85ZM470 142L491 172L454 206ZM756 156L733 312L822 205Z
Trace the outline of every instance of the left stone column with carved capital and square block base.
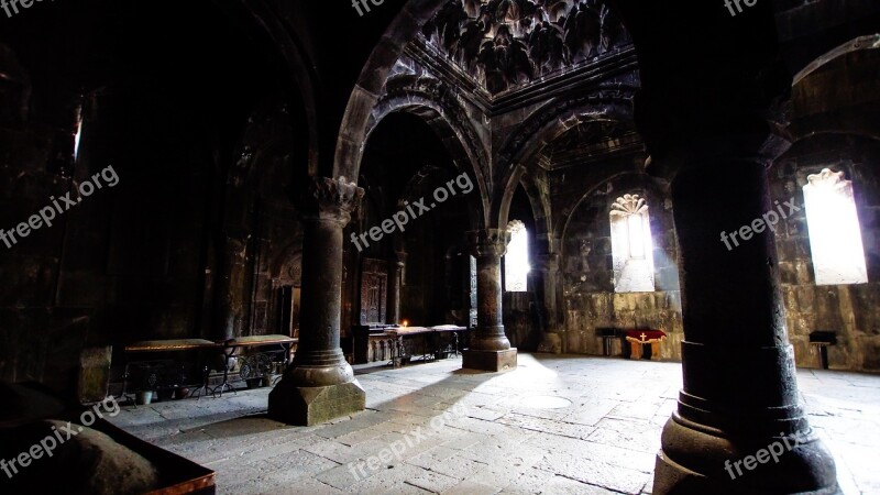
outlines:
M366 393L340 349L342 229L364 190L343 178L314 178L300 206L302 296L294 363L272 391L270 416L311 426L364 410Z

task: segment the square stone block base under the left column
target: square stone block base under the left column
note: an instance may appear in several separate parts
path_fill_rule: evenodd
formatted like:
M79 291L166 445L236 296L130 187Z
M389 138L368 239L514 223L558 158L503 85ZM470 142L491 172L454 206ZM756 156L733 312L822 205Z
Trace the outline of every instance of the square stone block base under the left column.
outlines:
M314 426L366 408L366 392L358 381L323 387L297 387L282 380L268 395L268 416L296 426Z

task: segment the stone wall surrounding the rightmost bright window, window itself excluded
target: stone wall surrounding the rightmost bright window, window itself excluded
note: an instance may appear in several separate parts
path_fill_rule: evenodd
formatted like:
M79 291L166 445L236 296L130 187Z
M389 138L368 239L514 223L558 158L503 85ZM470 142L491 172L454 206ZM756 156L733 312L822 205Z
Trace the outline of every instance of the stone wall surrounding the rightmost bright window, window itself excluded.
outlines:
M844 172L853 180L868 284L815 284L803 186L807 175L822 168ZM814 138L793 147L770 174L773 199L794 198L801 208L777 229L789 339L798 365L820 366L810 333L825 330L837 334L837 344L828 348L831 369L880 371L880 145L845 135Z

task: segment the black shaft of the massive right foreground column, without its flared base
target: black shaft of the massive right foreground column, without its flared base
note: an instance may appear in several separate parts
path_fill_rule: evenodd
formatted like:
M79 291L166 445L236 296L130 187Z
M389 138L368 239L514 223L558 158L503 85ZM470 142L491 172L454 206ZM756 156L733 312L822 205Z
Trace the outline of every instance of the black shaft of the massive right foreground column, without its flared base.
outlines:
M765 229L749 240L739 232L778 211L765 164L716 160L682 170L672 184L672 200L684 275L686 380L680 410L700 419L708 402L713 414L704 418L707 424L726 429L745 424L754 430L757 425L744 421L744 415L771 419L768 407L784 408L784 414L774 410L778 420L766 427L776 433L781 427L799 429L789 425L803 420L803 411L790 363L773 232ZM739 245L725 242L722 232L728 238L736 232Z

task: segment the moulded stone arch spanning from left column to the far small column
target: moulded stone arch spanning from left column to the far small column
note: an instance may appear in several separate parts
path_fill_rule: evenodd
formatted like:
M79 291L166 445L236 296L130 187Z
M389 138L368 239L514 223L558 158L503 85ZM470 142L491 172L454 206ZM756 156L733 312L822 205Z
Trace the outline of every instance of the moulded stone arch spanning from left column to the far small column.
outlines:
M464 110L436 79L400 76L388 86L388 92L376 102L370 113L364 143L369 141L378 124L392 113L406 112L425 120L452 155L458 170L471 176L476 185L475 193L479 195L468 196L471 227L481 229L486 226L491 187L485 180L490 167L488 158ZM362 157L363 150L358 157L359 170Z

